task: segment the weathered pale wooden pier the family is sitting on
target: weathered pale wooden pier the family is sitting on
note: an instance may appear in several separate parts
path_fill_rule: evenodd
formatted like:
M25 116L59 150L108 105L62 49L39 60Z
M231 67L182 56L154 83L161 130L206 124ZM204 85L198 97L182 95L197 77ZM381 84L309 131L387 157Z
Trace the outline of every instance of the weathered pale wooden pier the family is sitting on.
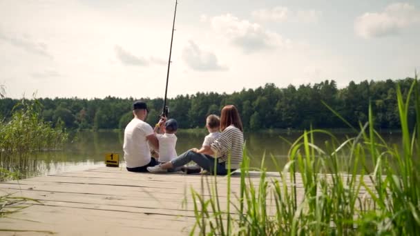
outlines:
M213 176L207 178L215 181ZM256 185L258 179L258 174L251 177ZM101 167L0 182L0 195L13 193L38 201L0 218L0 234L188 235L195 223L191 188L201 193L201 181L202 175L130 173L125 168ZM302 182L298 182L298 195L302 195ZM217 177L217 183L225 208L227 177ZM239 190L236 174L231 178L231 193L238 195ZM203 193L209 196L207 190Z

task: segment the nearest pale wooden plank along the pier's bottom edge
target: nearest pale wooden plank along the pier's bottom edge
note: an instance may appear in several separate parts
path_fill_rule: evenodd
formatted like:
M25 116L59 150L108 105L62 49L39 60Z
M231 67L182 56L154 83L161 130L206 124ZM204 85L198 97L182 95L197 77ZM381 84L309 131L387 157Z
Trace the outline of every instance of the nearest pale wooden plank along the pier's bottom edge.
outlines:
M31 206L12 218L1 219L0 227L10 230L44 230L58 235L185 235L191 219L156 219L137 213ZM27 208L29 209L29 208ZM44 233L47 235L47 233Z

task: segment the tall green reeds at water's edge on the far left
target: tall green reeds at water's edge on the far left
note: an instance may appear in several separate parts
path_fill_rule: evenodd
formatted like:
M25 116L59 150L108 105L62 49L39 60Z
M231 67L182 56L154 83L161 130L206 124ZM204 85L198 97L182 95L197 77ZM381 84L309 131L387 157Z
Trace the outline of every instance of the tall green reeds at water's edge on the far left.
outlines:
M40 118L40 110L36 99L23 99L13 108L10 120L0 121L0 169L23 175L37 170L32 157L39 151L57 150L68 139L63 128L53 128ZM6 177L0 171L0 181Z

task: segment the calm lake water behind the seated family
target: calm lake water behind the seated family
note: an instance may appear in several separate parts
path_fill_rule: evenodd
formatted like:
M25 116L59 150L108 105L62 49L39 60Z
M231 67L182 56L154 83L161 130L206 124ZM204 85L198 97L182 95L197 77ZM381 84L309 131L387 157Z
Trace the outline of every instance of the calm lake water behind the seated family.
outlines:
M189 148L200 148L206 132L185 133L178 132L177 152L178 155ZM354 137L354 134L347 134ZM247 151L251 157L251 166L259 167L262 156L265 154L265 167L267 170L276 170L271 156L276 159L280 167L287 163L289 144L283 139L295 141L299 133L245 133ZM345 140L345 134L336 134L340 140ZM400 144L401 134L386 133L383 138L388 144ZM330 140L326 135L317 135L316 144L323 146L325 141ZM79 132L73 141L69 142L63 151L39 153L27 165L30 175L46 175L62 173L74 170L84 170L95 166L104 166L104 155L107 152L120 153L122 159L122 132Z

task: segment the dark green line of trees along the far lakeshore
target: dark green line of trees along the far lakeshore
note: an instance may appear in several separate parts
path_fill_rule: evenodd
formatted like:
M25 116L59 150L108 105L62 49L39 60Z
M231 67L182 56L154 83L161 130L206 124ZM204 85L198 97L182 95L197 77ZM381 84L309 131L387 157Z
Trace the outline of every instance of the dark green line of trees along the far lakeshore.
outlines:
M203 128L205 117L220 115L226 104L235 105L240 111L244 128L260 130L267 128L348 128L342 119L334 115L335 110L353 126L367 121L369 106L374 112L374 123L379 128L399 128L397 108L397 85L403 95L414 79L386 81L351 81L345 88L338 89L336 81L289 85L278 88L266 83L256 89L242 89L232 94L197 92L195 95L178 95L168 99L169 117L178 120L180 128ZM53 126L64 125L69 129L122 129L133 118L131 105L144 100L149 106L149 124L155 124L162 112L163 99L118 98L104 99L39 98L41 117ZM12 117L19 99L0 99L0 120ZM330 108L327 108L327 106ZM18 108L15 108L18 109ZM414 110L410 112L414 121Z

